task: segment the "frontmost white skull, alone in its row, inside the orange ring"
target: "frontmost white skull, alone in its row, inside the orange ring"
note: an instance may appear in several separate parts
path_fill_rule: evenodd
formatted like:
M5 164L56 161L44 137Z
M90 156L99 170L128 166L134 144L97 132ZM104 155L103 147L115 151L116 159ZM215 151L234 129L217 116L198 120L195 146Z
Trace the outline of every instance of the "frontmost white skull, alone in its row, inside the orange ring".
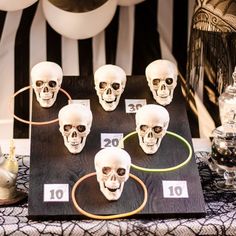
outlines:
M100 150L94 158L100 190L109 200L118 200L129 178L130 155L118 147Z

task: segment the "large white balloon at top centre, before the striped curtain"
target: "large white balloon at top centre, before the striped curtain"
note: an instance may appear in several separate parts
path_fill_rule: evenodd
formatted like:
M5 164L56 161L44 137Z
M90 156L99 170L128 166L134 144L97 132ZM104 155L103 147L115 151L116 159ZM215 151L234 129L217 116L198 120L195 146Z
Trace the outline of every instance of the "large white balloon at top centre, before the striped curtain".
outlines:
M117 0L108 0L87 12L65 11L49 0L42 0L42 5L46 20L56 32L71 39L86 39L97 35L110 23L116 11Z

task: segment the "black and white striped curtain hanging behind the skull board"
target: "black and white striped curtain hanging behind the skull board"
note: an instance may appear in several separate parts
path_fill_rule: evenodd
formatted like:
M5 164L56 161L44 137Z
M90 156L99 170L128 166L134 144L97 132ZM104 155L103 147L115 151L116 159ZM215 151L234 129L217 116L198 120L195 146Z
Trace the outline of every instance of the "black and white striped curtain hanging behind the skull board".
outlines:
M0 11L0 138L29 137L27 125L13 122L8 99L30 84L30 69L40 61L58 63L64 75L91 75L108 63L122 67L127 75L144 75L151 61L163 58L177 61L185 75L193 6L194 0L118 6L106 29L84 40L54 31L40 1L23 10ZM22 95L15 99L14 112L28 120L29 94Z

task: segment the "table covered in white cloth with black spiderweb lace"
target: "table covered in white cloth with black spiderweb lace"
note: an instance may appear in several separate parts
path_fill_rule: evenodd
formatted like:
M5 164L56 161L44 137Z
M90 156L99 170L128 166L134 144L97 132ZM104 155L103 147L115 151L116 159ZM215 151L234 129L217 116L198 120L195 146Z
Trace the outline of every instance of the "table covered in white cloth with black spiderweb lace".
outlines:
M22 143L27 149L27 142L29 145L29 140L16 141L16 150ZM0 140L0 144L5 153L4 141ZM193 139L193 145L206 203L204 218L32 221L27 218L27 201L23 201L0 208L0 235L236 235L236 192L216 188L214 181L222 177L202 161L210 151L209 142ZM29 154L18 153L17 159L20 167L17 187L27 192Z

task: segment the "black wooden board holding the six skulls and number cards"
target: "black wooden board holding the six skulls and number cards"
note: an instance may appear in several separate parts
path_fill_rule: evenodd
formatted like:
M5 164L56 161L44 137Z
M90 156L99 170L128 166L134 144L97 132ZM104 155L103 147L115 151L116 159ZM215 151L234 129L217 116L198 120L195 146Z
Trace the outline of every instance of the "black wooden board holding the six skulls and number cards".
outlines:
M120 103L115 111L106 112L98 102L93 77L65 76L62 88L72 99L89 99L93 113L91 132L80 154L70 154L64 146L59 132L59 124L33 126L31 132L29 217L33 219L83 219L71 200L71 189L75 182L87 173L95 171L94 156L101 149L101 133L128 133L135 130L135 114L125 112L125 99L146 99L156 104L144 76L129 76ZM34 121L57 118L60 108L67 104L61 92L53 107L41 108L35 97L32 110ZM172 103L166 106L170 114L169 131L182 135L192 145L185 102L180 84L174 92ZM184 145L170 135L166 135L156 154L146 155L138 145L137 136L125 141L132 163L147 168L166 168L180 164L187 158ZM133 218L147 217L199 217L205 214L205 204L200 177L194 157L184 167L162 173L146 173L131 168L131 173L144 181L148 189L145 208ZM163 196L162 181L186 181L187 198L166 198ZM69 200L66 202L44 201L45 184L68 184ZM136 209L143 200L140 186L131 178L125 183L118 201L109 202L99 190L95 177L82 182L76 198L79 205L93 214L112 215Z

